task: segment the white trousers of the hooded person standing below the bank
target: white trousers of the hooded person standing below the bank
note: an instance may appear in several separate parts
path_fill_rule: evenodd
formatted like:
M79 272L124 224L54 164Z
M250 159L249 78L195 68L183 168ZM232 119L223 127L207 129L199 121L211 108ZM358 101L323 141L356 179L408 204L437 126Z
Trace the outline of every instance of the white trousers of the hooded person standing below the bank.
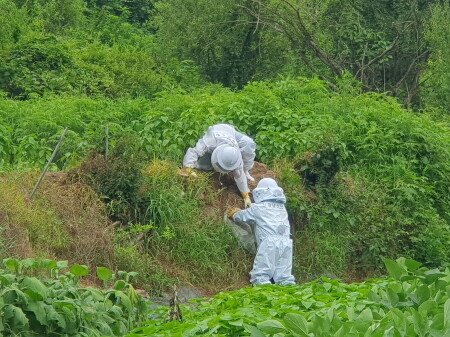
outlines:
M286 236L266 237L259 245L253 269L252 284L295 284L292 275L292 240Z

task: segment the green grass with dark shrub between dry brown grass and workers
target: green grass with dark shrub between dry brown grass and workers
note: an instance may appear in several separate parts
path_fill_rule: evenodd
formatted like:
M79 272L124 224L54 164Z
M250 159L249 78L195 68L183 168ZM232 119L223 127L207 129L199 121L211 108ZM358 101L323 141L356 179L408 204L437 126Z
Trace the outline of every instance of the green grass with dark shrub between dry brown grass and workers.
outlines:
M121 155L118 155L121 153ZM220 215L206 216L215 200L208 174L188 179L176 164L114 150L72 173L103 197L115 221L115 259L138 272L141 287L160 294L174 283L216 292L242 284L248 257Z

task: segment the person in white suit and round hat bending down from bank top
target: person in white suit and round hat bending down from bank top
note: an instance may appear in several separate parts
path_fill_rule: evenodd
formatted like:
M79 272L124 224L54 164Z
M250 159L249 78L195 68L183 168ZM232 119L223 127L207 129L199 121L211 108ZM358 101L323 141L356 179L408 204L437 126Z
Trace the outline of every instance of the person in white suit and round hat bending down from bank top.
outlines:
M183 167L195 176L194 168L220 173L233 172L234 180L244 198L245 207L250 207L250 190L247 179L253 181L248 172L254 164L256 144L249 136L236 131L229 124L210 126L195 147L187 150Z

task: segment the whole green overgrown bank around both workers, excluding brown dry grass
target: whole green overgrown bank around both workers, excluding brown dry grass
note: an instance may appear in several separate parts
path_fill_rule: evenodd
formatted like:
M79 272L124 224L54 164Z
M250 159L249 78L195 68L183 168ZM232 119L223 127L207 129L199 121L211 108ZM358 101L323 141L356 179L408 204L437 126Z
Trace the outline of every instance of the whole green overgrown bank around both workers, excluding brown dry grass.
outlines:
M258 161L285 189L300 281L361 278L377 273L383 257L449 262L448 124L384 95L298 79L152 101L3 100L0 118L4 170L43 167L69 127L52 169L78 167L71 177L92 186L120 224L115 257L153 289L177 278L219 288L247 282L251 257L211 214L217 186L207 175L177 175L186 148L217 122L253 137Z

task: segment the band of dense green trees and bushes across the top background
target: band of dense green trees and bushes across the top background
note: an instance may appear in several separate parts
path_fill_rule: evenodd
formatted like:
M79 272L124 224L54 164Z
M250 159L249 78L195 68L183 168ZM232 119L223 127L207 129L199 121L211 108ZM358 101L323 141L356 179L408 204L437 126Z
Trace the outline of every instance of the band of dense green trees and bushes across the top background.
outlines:
M152 98L190 92L205 85L202 78L242 88L299 75L338 89L351 76L360 90L445 110L447 7L425 0L2 0L0 94Z

